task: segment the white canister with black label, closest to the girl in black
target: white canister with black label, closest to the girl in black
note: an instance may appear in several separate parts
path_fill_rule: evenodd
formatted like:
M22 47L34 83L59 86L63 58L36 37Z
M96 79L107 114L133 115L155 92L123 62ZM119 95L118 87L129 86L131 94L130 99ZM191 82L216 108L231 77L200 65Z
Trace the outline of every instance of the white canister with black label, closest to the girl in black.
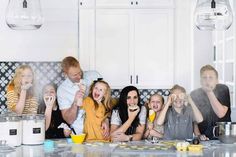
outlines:
M45 117L41 114L22 115L22 144L43 144L45 140Z

